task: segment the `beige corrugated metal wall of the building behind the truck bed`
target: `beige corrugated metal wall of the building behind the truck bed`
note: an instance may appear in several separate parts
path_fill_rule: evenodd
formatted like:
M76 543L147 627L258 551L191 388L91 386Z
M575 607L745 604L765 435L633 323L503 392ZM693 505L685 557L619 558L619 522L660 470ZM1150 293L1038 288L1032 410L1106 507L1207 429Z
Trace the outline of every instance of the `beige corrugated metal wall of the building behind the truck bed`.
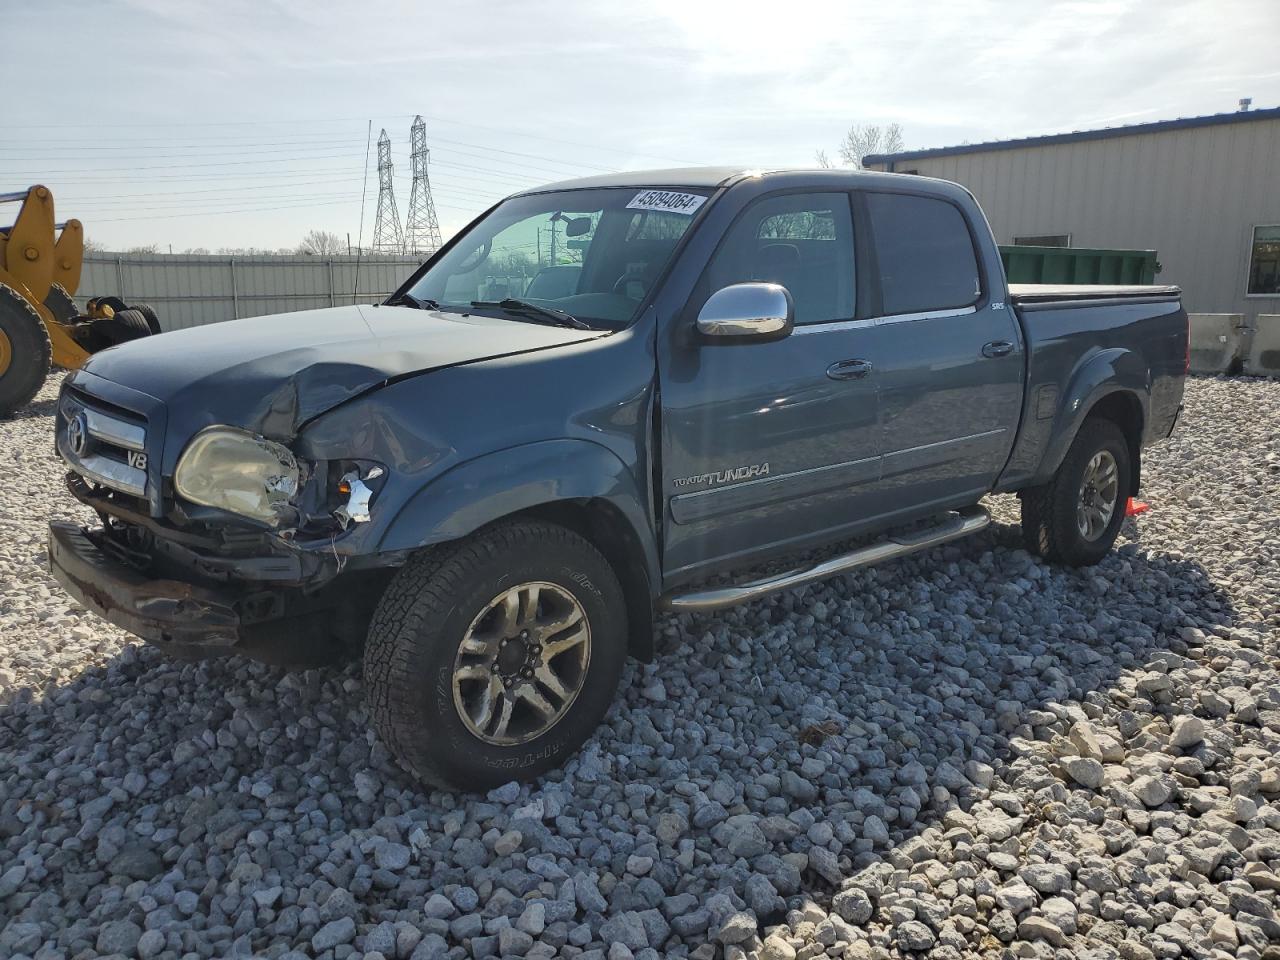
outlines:
M1187 308L1280 312L1247 297L1253 228L1280 224L1280 120L1193 127L1016 150L902 160L899 170L963 183L1000 243L1071 236L1073 247L1156 250L1157 283Z

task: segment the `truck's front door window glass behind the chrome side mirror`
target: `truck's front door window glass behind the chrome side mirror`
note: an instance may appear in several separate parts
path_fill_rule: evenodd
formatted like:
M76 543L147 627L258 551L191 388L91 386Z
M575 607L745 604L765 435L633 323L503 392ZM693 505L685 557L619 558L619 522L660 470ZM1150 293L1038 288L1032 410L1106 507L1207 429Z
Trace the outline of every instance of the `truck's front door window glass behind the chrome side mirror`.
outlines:
M707 294L765 280L791 292L797 324L854 315L854 225L846 193L788 193L746 209L721 242Z

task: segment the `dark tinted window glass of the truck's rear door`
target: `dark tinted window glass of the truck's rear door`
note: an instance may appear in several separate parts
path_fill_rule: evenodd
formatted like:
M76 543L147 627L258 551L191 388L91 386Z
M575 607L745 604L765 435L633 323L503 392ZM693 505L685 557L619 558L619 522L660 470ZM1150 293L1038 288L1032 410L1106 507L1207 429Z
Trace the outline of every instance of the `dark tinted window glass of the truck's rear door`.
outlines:
M974 303L978 257L960 211L945 200L868 193L884 314L923 314Z

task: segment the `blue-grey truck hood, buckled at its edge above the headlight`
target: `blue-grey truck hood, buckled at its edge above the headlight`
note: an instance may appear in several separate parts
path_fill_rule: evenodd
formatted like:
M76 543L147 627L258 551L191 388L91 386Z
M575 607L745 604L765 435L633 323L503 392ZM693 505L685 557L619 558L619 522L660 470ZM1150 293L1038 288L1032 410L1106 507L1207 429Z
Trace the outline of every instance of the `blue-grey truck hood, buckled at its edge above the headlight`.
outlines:
M163 401L170 425L228 424L291 439L316 415L389 380L603 335L356 305L146 337L95 355L84 370Z

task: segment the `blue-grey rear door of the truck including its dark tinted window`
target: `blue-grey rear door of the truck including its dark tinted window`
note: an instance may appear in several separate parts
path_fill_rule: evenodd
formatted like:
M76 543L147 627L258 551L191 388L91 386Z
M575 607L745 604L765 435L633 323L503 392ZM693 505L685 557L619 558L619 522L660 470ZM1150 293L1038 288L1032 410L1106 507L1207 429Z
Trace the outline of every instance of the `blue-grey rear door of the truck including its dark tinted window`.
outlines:
M1012 447L1023 343L1001 278L984 278L975 230L936 195L864 192L870 234L886 513L975 500ZM864 268L865 269L865 268Z

